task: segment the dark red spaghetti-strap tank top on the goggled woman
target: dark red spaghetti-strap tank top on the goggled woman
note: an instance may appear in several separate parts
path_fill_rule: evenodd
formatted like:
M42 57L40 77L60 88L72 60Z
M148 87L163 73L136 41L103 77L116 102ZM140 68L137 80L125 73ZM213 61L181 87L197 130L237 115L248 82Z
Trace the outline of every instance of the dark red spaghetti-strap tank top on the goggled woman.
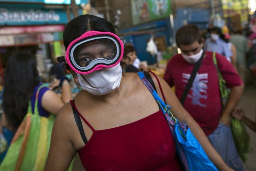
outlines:
M79 118L80 124L76 119L86 143L78 153L87 171L182 170L174 138L161 110L130 124L95 130L79 113L74 102L70 102L74 115L76 114L75 118L79 118L80 115L93 130L93 135L87 142L81 128L81 119Z

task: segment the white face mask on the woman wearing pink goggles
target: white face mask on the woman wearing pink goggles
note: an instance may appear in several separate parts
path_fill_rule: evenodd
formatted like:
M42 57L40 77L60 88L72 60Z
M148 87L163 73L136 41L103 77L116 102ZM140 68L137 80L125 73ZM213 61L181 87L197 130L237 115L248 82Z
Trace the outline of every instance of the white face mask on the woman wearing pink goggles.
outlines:
M77 73L77 76L83 90L93 95L101 96L109 94L119 87L122 78L122 68L119 63L112 68L104 68L90 74L84 74L86 80L95 88L91 87L80 74Z

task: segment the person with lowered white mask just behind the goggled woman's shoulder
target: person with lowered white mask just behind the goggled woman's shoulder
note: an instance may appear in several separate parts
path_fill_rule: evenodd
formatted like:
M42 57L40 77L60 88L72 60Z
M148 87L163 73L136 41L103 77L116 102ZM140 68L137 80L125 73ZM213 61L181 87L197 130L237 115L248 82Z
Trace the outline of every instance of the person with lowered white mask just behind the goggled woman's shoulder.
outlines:
M147 71L147 68L144 65L139 64L139 68L137 68L138 60L136 59L138 59L138 57L136 55L134 46L130 43L125 44L124 58L122 59L122 62L121 62L123 71L124 72L139 72L140 70Z

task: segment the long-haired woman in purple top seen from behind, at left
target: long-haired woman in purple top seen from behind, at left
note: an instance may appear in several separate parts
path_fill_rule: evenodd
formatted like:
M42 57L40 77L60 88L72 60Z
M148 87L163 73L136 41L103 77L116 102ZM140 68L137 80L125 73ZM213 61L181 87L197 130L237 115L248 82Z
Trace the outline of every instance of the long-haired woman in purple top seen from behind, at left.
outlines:
M1 126L11 131L13 136L27 114L30 101L32 112L34 111L37 90L42 84L36 61L28 52L18 52L10 57L5 68L4 78ZM41 116L47 117L50 113L57 114L60 108L72 99L69 82L63 78L59 85L62 87L61 97L49 90L48 87L40 89L38 111ZM12 138L9 136L8 139Z

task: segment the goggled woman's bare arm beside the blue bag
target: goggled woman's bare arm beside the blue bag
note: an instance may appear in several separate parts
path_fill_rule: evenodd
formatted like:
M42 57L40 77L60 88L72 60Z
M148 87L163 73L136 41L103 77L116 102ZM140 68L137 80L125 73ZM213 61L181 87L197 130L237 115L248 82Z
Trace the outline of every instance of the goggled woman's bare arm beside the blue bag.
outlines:
M152 74L151 74L152 75ZM155 77L152 76L154 83L157 87L157 91L159 90L159 86ZM217 167L218 170L232 170L230 169L221 156L216 152L208 138L205 136L203 130L196 123L196 121L188 114L188 112L183 108L179 100L176 98L176 95L173 93L170 86L158 76L160 84L162 86L164 96L166 97L166 103L171 106L171 112L173 115L180 120L181 122L185 122L194 136L197 138L201 146L203 147L205 153L209 157L209 159L213 162L213 164ZM160 91L158 91L160 92Z

